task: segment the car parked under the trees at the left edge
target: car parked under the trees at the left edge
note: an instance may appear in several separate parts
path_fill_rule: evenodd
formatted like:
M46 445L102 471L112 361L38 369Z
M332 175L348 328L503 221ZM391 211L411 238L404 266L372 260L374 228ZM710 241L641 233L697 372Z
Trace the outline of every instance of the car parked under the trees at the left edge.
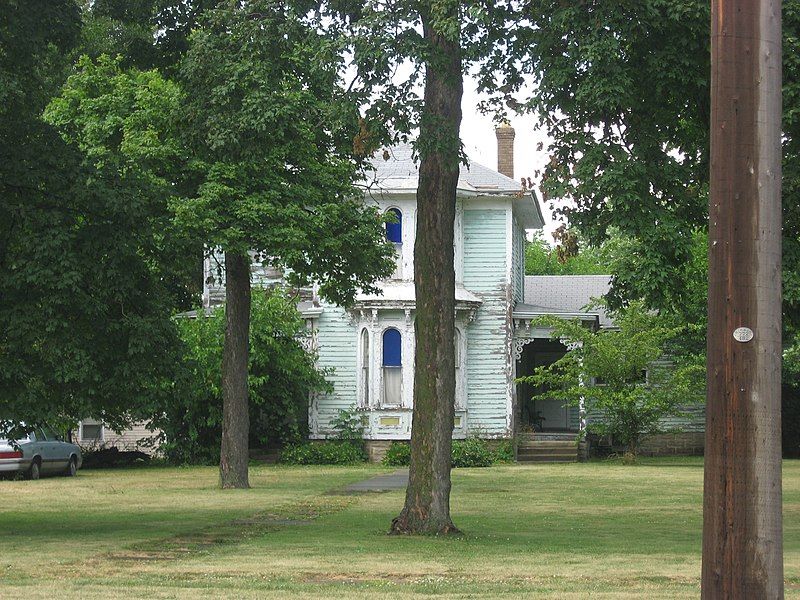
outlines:
M47 429L37 428L25 438L0 438L0 475L22 473L28 479L58 473L74 476L83 463L81 449Z

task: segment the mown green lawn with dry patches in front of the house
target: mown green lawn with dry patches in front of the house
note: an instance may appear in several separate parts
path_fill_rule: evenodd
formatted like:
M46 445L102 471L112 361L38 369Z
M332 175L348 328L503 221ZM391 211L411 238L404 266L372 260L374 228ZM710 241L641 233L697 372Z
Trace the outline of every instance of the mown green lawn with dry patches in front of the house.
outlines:
M458 469L458 538L386 535L381 467L82 471L0 481L0 597L696 598L702 462ZM800 461L784 463L787 597L800 598Z

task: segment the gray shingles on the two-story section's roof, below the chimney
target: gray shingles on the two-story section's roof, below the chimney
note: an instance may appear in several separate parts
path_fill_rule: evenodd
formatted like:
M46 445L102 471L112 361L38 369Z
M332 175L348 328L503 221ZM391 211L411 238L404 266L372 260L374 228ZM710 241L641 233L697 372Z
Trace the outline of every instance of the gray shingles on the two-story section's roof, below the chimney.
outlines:
M393 146L386 152L389 160L384 159L384 150L379 150L372 158L375 172L370 174L374 176L370 183L383 190L417 189L419 164L412 158L411 145ZM468 167L461 165L458 188L481 194L508 194L522 190L519 182L475 161L470 161Z

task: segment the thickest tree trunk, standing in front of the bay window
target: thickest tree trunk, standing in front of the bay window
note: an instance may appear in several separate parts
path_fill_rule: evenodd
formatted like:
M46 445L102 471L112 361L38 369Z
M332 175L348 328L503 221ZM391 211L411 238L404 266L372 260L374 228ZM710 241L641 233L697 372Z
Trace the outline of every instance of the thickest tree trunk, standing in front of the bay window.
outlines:
M458 22L458 2L447 18ZM450 452L455 400L453 226L461 127L461 49L422 15L432 54L420 126L417 237L414 245L416 356L411 466L406 502L393 533L457 532L450 520Z

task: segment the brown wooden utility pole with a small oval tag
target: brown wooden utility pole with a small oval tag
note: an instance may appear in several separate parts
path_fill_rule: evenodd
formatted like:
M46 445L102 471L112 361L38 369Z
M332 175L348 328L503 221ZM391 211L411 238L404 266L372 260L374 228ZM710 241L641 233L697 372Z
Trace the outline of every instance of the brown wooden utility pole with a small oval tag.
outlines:
M711 1L702 598L783 598L781 1Z

